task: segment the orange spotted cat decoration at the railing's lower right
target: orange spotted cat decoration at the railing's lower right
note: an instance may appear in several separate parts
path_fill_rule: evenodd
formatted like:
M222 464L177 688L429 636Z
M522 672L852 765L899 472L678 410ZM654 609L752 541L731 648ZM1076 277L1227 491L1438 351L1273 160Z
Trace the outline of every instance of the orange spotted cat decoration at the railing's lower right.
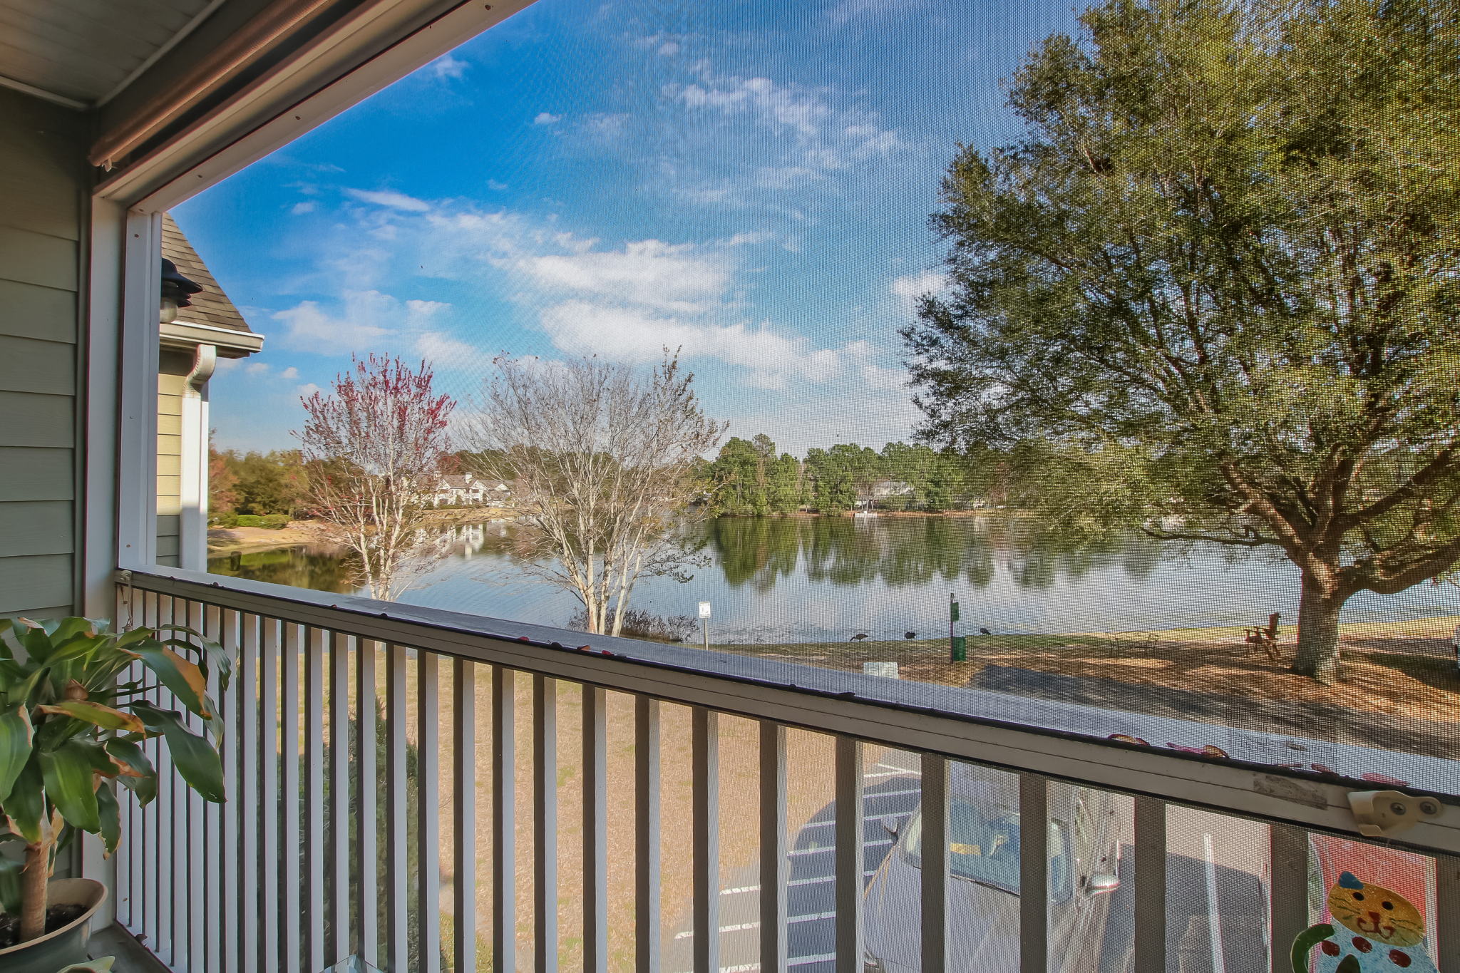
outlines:
M1329 891L1329 915L1333 922L1310 926L1294 941L1294 973L1437 973L1425 950L1425 920L1403 896L1343 872Z

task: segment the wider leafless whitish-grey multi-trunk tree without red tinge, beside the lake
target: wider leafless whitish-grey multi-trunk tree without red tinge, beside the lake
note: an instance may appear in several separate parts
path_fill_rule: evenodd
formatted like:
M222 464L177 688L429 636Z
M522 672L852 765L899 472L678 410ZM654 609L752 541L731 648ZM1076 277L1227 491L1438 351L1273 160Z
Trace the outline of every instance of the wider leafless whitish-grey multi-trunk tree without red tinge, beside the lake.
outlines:
M667 350L648 375L597 357L495 365L463 423L469 462L515 481L531 528L523 567L574 592L588 632L619 635L639 578L688 581L701 563L680 528L695 516L696 460L726 426Z

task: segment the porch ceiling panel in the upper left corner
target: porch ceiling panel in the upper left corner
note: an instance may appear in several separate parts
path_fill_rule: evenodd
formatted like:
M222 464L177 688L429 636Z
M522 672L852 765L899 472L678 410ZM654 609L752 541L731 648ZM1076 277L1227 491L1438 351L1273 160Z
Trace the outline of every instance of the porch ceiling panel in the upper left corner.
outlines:
M0 0L0 83L104 104L218 6L219 0Z

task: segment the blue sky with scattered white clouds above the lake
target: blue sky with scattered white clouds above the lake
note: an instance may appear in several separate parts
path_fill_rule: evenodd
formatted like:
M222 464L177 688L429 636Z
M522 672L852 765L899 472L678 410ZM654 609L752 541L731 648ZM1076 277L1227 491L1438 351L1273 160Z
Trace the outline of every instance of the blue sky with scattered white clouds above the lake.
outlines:
M666 19L673 16L676 19ZM288 448L352 352L677 346L730 435L908 439L896 330L940 283L956 143L1066 3L539 0L174 210L266 350L212 384L220 446Z

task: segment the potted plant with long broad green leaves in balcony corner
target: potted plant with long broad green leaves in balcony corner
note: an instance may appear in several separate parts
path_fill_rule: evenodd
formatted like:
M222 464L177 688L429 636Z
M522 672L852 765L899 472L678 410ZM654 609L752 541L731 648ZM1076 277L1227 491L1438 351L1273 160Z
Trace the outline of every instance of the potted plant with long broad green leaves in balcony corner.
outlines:
M117 850L114 782L143 805L158 794L145 740L164 740L182 780L223 801L222 724L207 684L216 672L226 689L231 671L228 654L185 626L112 632L88 619L0 619L0 969L54 973L86 960L89 920L107 888L53 880L55 853L79 830L99 836L105 855ZM145 697L159 687L203 732Z

